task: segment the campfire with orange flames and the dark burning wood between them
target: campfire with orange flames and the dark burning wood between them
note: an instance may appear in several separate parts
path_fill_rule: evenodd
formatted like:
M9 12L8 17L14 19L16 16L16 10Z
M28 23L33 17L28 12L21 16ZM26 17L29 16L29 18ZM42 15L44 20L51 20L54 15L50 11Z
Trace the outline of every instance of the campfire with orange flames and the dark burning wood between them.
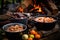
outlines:
M25 13L25 12L27 12L27 13L28 12L29 13L44 13L44 11L42 10L42 7L41 7L40 3L36 4L36 0L34 0L34 3L31 2L31 4L30 3L28 3L28 4L29 4L28 6L25 5L26 6L25 8L23 8L23 5L20 6L18 8L18 11L21 12L21 13Z

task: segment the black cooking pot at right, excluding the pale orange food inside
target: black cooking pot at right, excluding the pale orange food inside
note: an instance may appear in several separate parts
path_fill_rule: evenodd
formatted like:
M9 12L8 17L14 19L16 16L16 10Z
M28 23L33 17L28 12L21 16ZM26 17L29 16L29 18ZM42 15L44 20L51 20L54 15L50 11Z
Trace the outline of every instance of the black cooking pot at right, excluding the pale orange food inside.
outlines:
M54 27L55 27L55 24L56 24L56 22L57 22L57 18L56 17L53 17L53 16L38 16L38 17L52 17L52 18L54 18L56 21L54 21L54 22L50 22L50 23L44 23L44 22L37 22L37 21L35 21L35 20L32 20L33 21L33 23L34 23L34 25L36 26L36 28L37 28L37 30L45 30L45 31L47 31L47 30L51 30L51 29L53 29ZM34 17L34 19L35 18L38 18L38 17Z

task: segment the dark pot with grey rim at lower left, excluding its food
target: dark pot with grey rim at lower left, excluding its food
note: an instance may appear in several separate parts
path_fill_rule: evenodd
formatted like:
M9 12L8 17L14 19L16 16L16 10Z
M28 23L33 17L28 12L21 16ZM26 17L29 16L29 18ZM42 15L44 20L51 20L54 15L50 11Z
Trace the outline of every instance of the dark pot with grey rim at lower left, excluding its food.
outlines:
M21 25L23 26L23 30L21 30L20 32L9 32L9 31L6 31L6 29L12 25ZM22 40L22 34L21 33L24 33L26 32L26 29L27 29L27 26L24 25L24 24L21 24L21 23L9 23L9 24L6 24L3 26L3 31L5 31L5 34L7 36L7 38L9 40Z

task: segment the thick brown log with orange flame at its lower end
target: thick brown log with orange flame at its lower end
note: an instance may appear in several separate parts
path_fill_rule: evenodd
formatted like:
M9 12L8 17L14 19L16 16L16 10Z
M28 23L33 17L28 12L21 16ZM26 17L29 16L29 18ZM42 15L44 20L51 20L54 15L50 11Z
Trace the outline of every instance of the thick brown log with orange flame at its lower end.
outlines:
M20 7L18 8L18 11L21 13L24 13L27 11L26 8L32 4L33 4L32 0L21 0Z

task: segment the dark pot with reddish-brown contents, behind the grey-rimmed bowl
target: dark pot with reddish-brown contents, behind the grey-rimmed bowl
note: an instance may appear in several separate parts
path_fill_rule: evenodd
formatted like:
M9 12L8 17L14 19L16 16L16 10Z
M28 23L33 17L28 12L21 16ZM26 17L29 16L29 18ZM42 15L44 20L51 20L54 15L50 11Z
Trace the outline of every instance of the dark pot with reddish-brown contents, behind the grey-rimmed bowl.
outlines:
M27 25L28 18L22 13L14 13L10 21L13 23L22 23L22 24Z

